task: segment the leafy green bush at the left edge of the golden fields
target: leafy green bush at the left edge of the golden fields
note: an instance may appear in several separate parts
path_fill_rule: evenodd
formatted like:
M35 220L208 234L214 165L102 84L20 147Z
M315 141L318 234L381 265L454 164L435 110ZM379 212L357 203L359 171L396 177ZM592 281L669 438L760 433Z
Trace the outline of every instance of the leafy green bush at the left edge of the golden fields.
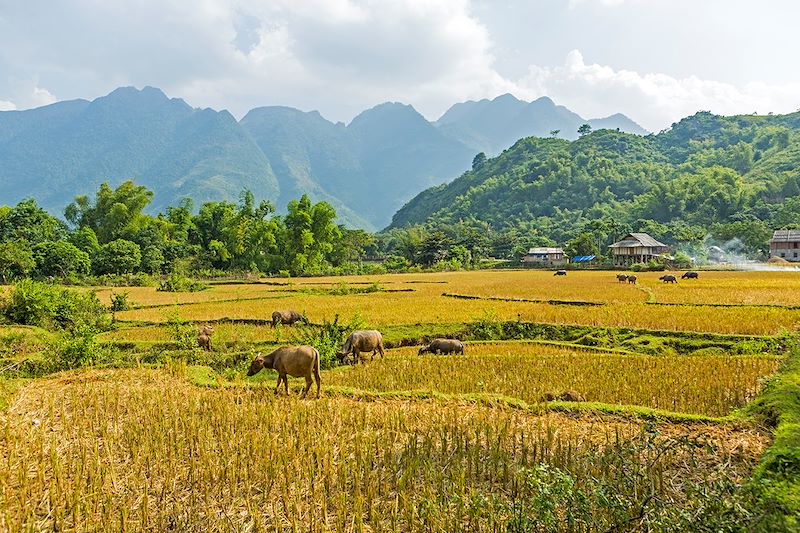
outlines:
M2 305L3 316L14 324L45 329L107 327L108 317L94 292L79 292L31 280L17 283Z

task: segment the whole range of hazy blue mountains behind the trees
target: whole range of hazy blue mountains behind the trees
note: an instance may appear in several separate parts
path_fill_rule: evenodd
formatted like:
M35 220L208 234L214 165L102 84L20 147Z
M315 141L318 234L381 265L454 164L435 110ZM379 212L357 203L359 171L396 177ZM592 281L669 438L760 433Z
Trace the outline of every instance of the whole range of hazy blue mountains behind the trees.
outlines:
M341 222L379 229L420 191L468 169L476 153L552 130L572 139L583 123L646 133L624 115L587 121L548 98L464 102L436 122L385 103L344 125L288 107L237 121L159 89L125 87L91 102L0 112L0 202L33 197L60 214L104 181L134 179L155 192L155 210L186 197L196 206L236 201L245 188L283 209L308 193L330 202Z

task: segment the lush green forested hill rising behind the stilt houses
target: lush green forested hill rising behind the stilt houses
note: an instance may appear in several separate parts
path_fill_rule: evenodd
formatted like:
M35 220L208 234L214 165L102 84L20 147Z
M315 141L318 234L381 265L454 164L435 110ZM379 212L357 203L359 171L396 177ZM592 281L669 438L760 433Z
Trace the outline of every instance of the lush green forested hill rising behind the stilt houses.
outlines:
M647 137L598 130L571 142L522 139L422 192L390 227L459 221L528 228L555 242L603 223L673 241L725 227L738 236L736 224L763 237L800 224L800 113L701 112Z

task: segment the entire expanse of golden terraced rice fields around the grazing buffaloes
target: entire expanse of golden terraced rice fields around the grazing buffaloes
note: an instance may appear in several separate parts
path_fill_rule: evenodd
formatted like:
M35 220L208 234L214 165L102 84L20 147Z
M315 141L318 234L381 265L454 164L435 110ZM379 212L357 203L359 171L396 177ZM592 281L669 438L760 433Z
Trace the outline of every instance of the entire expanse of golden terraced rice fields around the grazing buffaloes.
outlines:
M0 337L0 530L791 531L800 273L660 275L100 289L134 304L97 338L114 368L31 380L53 334ZM276 397L250 358L318 330L274 309L390 349ZM186 349L204 322L214 351ZM417 355L440 335L465 354Z

